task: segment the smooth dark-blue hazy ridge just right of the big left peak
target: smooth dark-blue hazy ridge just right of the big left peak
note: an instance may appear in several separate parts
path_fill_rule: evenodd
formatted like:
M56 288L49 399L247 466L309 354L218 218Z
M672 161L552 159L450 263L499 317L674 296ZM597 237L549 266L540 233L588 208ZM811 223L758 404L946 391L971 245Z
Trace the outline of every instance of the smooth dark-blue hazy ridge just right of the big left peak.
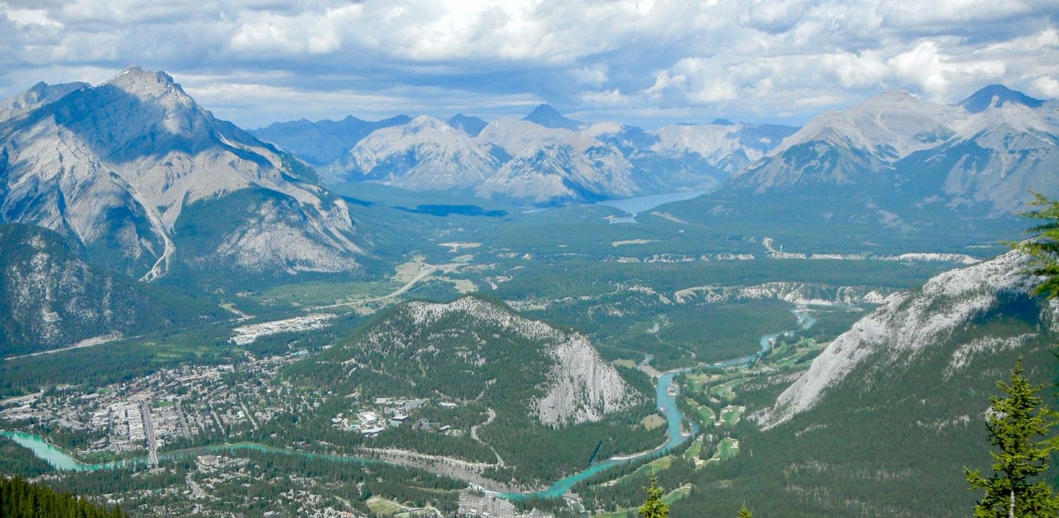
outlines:
M250 133L271 142L312 165L326 165L342 158L361 139L376 129L407 124L412 119L397 115L382 121L363 121L353 115L341 121L305 119L276 122Z

